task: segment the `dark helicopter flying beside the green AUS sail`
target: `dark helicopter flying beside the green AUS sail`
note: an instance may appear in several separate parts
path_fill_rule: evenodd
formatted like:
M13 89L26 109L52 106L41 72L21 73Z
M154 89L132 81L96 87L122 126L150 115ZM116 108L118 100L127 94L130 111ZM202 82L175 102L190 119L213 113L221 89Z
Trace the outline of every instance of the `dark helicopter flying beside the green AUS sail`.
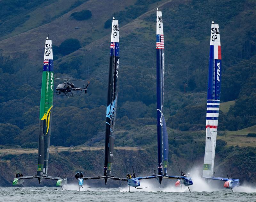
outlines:
M54 77L55 78L55 77ZM56 90L56 94L57 95L61 95L61 96L68 96L68 97L73 97L73 91L75 90L84 90L85 94L87 93L87 87L89 85L90 82L87 83L86 87L76 87L72 82L70 81L84 81L84 80L70 80L70 79L61 79L61 78L55 78L55 79L60 79L60 80L64 80L64 83L61 83L57 86Z

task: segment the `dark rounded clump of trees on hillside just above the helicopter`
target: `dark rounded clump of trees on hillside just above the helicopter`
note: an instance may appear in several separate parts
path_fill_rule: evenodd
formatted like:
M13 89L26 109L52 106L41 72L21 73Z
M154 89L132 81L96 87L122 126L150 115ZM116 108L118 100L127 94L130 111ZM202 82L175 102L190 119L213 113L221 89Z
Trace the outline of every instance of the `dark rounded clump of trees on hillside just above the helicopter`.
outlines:
M81 48L80 42L77 39L67 39L59 46L59 52L62 55L68 55Z

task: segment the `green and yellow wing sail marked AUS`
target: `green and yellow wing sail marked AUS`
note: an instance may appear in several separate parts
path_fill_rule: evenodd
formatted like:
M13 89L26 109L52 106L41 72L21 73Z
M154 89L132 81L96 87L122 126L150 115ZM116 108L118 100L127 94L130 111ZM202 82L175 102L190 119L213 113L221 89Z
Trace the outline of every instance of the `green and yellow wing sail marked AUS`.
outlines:
M53 54L52 40L45 40L44 64L41 88L41 102L39 115L39 144L37 176L47 176L49 147L52 125L52 103L53 103ZM38 178L39 183L41 178Z

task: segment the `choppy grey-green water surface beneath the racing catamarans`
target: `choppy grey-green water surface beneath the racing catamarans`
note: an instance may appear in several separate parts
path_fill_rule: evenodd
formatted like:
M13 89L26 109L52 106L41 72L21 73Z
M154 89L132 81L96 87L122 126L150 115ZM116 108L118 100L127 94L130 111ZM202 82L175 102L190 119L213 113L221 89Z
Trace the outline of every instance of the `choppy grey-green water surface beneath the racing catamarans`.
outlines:
M81 188L75 184L65 187L0 187L0 201L256 201L256 189L240 187L215 191L193 191L187 188ZM245 192L246 191L246 192Z

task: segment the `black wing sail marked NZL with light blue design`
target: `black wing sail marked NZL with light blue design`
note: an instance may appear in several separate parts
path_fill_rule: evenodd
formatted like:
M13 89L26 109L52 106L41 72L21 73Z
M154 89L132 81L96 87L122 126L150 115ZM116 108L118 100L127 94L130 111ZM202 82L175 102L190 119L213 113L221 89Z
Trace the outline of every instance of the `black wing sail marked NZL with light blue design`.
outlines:
M110 43L110 62L108 76L108 101L106 112L106 133L105 133L105 160L104 176L111 176L112 162L114 157L114 128L116 120L116 104L118 92L118 70L119 70L119 27L118 20L113 17ZM105 178L105 184L107 184Z

